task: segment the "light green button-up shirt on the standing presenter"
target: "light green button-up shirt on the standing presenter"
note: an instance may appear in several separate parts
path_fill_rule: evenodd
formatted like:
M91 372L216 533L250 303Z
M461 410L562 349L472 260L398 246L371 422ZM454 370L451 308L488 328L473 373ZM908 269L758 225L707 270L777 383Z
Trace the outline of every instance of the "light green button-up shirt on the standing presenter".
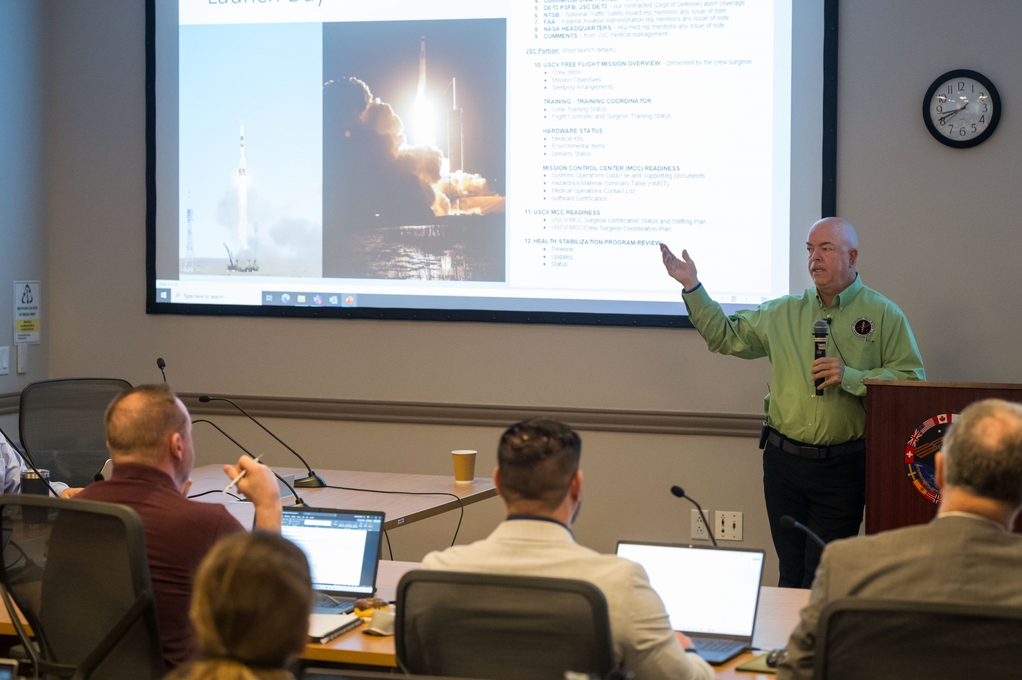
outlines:
M897 305L855 281L825 307L817 289L768 300L731 317L700 285L683 294L689 319L710 351L770 358L773 379L763 399L766 423L786 437L827 446L866 433L864 380L926 380L923 358ZM812 323L829 319L827 356L844 363L841 385L816 396L810 366Z

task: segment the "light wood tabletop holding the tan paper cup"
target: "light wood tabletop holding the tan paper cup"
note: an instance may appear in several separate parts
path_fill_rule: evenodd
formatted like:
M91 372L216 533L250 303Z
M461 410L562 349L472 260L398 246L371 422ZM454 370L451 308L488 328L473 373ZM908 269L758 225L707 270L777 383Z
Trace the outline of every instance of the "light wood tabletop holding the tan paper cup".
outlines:
M273 471L284 478L289 475L304 477L307 474L305 468L273 468ZM476 477L470 483L458 484L454 481L453 474L413 475L346 470L318 470L317 474L330 486L347 488L295 489L307 504L312 507L382 512L385 515L385 530L397 529L497 495L494 480L490 477ZM195 500L223 503L242 526L250 527L254 519L252 504L220 493L229 481L224 475L223 466L195 468L188 495L195 497ZM236 494L237 489L233 493ZM284 498L285 503L292 500L290 496Z

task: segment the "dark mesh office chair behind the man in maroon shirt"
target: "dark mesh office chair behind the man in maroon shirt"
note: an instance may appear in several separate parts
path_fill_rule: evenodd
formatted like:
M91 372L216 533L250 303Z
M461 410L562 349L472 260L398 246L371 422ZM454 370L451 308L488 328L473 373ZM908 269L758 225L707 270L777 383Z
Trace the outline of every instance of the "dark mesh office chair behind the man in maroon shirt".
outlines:
M164 676L145 532L135 511L95 500L3 495L0 541L0 595L39 677Z

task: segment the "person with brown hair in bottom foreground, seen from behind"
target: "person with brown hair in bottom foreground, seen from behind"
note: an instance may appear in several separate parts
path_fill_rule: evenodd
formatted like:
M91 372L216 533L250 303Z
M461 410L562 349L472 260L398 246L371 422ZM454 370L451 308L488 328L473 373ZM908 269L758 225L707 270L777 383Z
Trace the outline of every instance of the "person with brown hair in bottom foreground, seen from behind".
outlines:
M276 534L234 534L195 576L189 617L200 659L173 680L294 680L306 648L313 584L305 553Z

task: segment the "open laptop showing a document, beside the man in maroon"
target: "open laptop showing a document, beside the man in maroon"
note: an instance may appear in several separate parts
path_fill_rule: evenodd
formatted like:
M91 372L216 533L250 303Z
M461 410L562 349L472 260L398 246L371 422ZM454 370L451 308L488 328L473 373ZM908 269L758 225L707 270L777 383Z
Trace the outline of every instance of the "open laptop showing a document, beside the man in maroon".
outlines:
M280 534L306 553L316 601L313 614L346 614L376 592L383 513L285 507Z

